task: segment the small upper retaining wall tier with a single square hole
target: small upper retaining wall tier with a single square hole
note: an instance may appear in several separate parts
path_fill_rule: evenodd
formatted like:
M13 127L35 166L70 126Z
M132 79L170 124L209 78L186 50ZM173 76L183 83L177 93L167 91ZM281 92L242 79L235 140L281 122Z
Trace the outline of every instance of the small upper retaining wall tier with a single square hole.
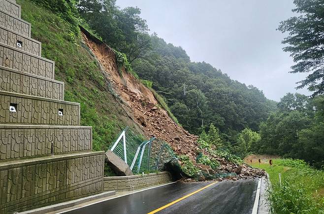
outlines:
M0 26L0 42L28 53L41 56L41 42Z

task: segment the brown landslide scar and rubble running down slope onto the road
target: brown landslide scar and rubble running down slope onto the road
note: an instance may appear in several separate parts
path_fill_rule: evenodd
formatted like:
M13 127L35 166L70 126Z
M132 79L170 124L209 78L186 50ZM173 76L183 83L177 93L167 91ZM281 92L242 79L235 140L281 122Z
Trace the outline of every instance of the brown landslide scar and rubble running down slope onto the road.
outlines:
M224 157L210 154L208 150L199 149L198 136L190 134L174 122L167 111L160 107L151 90L145 87L139 79L125 71L124 68L118 68L115 53L110 47L85 34L83 34L83 38L97 57L105 71L105 77L110 81L114 93L120 98L130 118L138 124L147 138L154 136L162 139L172 147L177 155L187 155L195 167L202 172L197 179L229 178L236 180L265 175L264 171L253 169L246 164L232 163ZM196 163L199 153L216 159L220 166L213 170L210 166ZM183 163L180 161L180 164ZM184 180L191 181L191 178L184 178Z

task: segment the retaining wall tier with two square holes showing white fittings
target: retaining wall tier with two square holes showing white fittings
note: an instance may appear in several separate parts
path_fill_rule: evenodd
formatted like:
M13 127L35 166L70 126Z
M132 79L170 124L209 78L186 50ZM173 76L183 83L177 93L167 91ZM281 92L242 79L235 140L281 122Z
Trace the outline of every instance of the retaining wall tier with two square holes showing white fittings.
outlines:
M78 126L80 104L0 91L0 123Z

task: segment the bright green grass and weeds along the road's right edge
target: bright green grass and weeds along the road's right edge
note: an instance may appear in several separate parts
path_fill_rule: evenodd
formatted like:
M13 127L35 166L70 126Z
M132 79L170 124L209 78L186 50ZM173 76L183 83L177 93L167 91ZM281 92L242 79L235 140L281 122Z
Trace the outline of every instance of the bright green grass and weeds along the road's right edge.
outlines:
M324 171L302 160L273 159L273 165L252 163L270 177L269 199L275 214L324 214ZM279 182L281 174L281 186Z

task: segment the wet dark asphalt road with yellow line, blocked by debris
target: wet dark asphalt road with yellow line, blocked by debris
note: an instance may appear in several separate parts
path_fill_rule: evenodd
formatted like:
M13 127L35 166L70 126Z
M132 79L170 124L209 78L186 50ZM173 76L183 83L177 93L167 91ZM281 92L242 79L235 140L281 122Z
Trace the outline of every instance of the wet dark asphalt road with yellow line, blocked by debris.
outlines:
M147 214L209 184L211 183L173 183L66 214ZM158 214L251 214L257 186L257 179L217 182L162 209Z

